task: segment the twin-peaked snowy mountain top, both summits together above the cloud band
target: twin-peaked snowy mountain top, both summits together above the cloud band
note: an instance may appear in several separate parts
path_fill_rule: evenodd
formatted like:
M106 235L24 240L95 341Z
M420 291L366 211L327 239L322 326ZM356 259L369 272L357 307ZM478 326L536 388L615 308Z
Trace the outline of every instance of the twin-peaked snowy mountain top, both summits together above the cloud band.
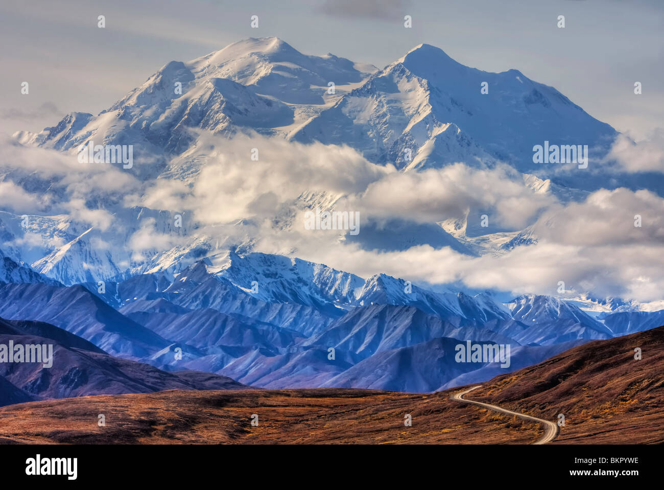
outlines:
M91 139L134 141L153 161L189 149L191 128L349 145L405 170L504 161L544 177L558 169L533 163L535 145L588 145L598 160L617 134L518 70L469 68L430 44L376 70L268 37L171 61L98 116L70 114L38 135L16 137L65 151ZM148 173L159 169L157 158Z

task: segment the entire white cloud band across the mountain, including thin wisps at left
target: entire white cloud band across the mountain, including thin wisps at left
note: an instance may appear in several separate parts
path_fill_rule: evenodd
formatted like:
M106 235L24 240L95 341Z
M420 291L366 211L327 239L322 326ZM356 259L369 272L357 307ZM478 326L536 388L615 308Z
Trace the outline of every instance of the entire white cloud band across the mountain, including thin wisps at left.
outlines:
M258 161L250 158L252 148L258 148ZM576 293L638 301L663 297L664 200L649 191L602 189L580 203L562 204L550 193L533 191L509 167L475 169L457 163L400 173L369 163L348 147L258 136L229 140L202 135L194 151L171 162L169 173L175 178L145 184L118 169L81 169L70 155L20 147L10 151L9 161L21 162L20 175L33 175L37 184L39 179L53 182L50 206L100 230L95 239L109 244L118 264L128 257L141 261L157 255L165 263L178 260L178 254L205 236L213 248L245 244L363 277L384 272L414 282L461 282L515 294L556 294L558 282L564 281ZM5 183L17 196L12 202L37 204L7 177ZM311 202L359 210L361 225L369 218L432 223L481 209L505 227L530 225L539 242L479 257L428 245L400 252L363 250L344 240L343 232L311 232L300 226L302 210L295 200L304 192L316 197L319 191L325 193L321 201ZM119 204L90 208L99 202L91 196L111 196L108 202ZM138 204L170 214L156 213L161 216L158 226L153 218L127 222L133 214L122 206ZM187 234L168 231L178 213L185 216ZM634 226L635 215L641 216L640 227ZM125 233L129 250L119 250Z

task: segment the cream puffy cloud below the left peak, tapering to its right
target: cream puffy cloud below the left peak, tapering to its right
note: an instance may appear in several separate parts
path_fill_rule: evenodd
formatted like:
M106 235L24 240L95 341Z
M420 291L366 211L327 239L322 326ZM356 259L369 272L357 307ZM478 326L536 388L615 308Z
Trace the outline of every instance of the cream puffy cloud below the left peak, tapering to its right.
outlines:
M238 136L228 140L201 135L199 151L177 158L171 167L202 159L195 181L155 181L142 200L151 208L192 210L203 224L274 216L305 191L358 193L389 173L349 147L301 145L279 139ZM258 149L258 161L250 158ZM184 160L184 161L183 161Z

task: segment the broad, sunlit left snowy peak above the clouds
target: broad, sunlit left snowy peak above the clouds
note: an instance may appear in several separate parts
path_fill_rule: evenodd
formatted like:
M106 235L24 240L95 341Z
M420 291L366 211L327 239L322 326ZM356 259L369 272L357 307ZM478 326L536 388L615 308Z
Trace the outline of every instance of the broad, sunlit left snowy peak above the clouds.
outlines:
M131 144L141 159L141 177L156 177L165 155L195 144L188 129L288 137L374 71L332 54L307 56L275 37L251 38L165 64L98 116L72 113L41 133L15 136L72 153L88 141ZM329 83L335 84L333 94L327 93Z

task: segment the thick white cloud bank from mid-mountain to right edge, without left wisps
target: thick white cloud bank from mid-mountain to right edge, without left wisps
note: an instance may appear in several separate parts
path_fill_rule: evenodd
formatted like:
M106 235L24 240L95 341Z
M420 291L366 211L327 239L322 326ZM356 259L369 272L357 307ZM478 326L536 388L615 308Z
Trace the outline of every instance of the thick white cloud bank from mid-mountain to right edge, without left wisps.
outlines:
M533 191L509 167L473 169L457 163L400 173L348 148L260 137L224 139L223 146L210 139L205 147L208 163L197 179L157 183L144 204L191 210L204 225L201 233L222 243L252 243L257 251L297 256L363 277L384 272L515 294L557 294L562 280L568 291L661 299L664 201L649 191L603 189L582 203L564 205L550 193ZM250 160L252 147L259 148L257 162ZM326 191L334 209L359 210L363 222L370 216L437 222L463 218L470 208L491 210L502 226L532 225L539 243L480 257L426 245L401 252L362 250L343 240L343 232L299 226L303 212L293 200L303 191ZM634 226L635 214L641 216L640 228ZM220 226L241 218L251 218L251 224ZM288 222L292 226L284 228Z

